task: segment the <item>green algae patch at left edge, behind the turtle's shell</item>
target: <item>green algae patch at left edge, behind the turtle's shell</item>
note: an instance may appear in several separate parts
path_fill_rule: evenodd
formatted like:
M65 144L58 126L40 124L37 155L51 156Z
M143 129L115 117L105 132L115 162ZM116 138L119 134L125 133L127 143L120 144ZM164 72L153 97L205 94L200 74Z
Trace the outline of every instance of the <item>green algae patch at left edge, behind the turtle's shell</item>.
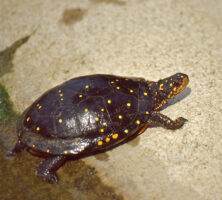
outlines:
M18 117L5 87L0 83L0 123Z

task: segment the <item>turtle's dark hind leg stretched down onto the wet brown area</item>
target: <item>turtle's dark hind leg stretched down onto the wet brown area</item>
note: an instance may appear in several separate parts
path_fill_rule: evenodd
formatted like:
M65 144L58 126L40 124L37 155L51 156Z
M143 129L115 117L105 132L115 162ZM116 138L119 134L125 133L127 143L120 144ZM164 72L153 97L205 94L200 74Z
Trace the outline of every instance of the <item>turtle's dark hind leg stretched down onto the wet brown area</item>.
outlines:
M43 161L37 168L37 176L48 181L49 183L58 182L56 170L66 162L65 156L53 156Z

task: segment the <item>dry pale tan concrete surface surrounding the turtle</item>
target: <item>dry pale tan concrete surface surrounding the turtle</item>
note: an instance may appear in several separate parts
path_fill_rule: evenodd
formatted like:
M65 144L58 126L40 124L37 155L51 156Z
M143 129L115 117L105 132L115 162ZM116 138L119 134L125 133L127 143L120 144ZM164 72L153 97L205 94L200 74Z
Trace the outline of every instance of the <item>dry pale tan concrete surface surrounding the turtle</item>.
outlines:
M0 81L22 112L41 93L93 73L158 80L190 76L164 114L180 130L148 129L129 144L85 158L125 199L222 199L222 2L220 0L0 0ZM71 170L71 169L70 169Z

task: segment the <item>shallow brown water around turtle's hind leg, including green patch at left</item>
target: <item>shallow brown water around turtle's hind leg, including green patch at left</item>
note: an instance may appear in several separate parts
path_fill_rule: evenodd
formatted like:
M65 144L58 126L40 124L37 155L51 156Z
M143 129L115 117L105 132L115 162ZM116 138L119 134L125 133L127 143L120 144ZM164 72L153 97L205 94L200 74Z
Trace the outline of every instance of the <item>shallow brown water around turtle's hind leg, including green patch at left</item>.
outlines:
M35 157L28 152L22 152L15 157L7 153L17 140L16 119L9 97L1 87L0 93L0 199L30 200L30 199L66 199L66 200L121 200L114 189L103 184L94 168L83 160L67 162L58 170L59 183L49 184L35 175L36 167L43 158ZM7 106L7 109L4 107Z

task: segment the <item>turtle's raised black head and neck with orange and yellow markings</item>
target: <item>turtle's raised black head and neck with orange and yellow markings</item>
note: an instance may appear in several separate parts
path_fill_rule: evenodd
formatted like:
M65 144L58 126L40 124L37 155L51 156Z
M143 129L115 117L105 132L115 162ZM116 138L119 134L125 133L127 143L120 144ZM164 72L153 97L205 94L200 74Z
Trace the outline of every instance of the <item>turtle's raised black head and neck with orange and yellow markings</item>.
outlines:
M158 110L166 104L168 99L182 92L183 89L186 88L188 82L188 76L182 73L176 73L173 76L156 82L154 93L155 110Z

